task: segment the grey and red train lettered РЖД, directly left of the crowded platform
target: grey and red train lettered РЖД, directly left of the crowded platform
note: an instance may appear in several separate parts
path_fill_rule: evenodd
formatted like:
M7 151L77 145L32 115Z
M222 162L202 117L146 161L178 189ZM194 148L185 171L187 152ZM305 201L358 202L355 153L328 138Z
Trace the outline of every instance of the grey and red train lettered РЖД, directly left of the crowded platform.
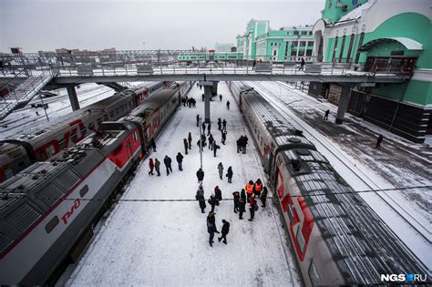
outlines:
M0 183L0 284L53 283L67 262L77 261L104 207L190 87L159 91L127 117L98 124L76 147Z

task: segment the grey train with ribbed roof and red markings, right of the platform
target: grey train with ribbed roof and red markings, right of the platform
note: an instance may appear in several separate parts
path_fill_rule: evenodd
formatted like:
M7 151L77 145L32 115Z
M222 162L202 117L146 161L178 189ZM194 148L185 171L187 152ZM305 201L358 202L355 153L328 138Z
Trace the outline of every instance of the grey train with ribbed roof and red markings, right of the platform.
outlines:
M381 274L430 278L430 270L301 130L252 87L229 85L260 150L305 285L386 283Z

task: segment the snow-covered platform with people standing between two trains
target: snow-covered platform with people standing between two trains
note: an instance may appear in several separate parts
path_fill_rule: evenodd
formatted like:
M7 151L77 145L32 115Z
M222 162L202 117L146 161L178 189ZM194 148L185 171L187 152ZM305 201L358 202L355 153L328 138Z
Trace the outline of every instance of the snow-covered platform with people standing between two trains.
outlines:
M300 284L295 271L288 239L279 222L277 210L267 204L248 221L249 210L239 220L233 212L232 192L244 188L249 179L264 179L257 151L248 145L247 154L236 152L236 140L241 135L252 138L242 120L228 87L220 83L219 98L211 103L211 131L221 146L217 157L210 149L203 153L205 172L203 187L209 199L215 186L222 190L223 200L216 207L216 223L231 222L228 244L216 240L209 245L206 217L194 200L198 188L196 171L200 168L200 153L196 143L199 128L196 116L203 116L201 91L193 87L189 97L197 99L197 108L180 108L157 140L157 151L150 158L159 159L161 176L149 175L149 159L137 171L135 179L122 199L105 220L81 261L77 263L67 285L273 285ZM230 100L231 109L225 108ZM227 140L221 144L217 118L226 118ZM184 155L183 138L192 135L192 148ZM183 171L177 168L175 156L184 156ZM166 175L165 155L172 159L173 173ZM232 167L232 183L219 179L218 164L224 173ZM266 180L263 180L264 183Z

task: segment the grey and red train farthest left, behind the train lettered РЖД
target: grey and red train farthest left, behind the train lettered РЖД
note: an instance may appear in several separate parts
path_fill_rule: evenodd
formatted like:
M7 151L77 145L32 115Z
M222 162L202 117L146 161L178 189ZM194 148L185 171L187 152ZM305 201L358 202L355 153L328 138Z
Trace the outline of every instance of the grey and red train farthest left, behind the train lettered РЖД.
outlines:
M0 140L0 182L36 161L50 159L61 149L73 147L86 137L89 128L98 128L102 121L126 116L167 85L170 83L158 82L128 89L58 118L54 125L32 128Z

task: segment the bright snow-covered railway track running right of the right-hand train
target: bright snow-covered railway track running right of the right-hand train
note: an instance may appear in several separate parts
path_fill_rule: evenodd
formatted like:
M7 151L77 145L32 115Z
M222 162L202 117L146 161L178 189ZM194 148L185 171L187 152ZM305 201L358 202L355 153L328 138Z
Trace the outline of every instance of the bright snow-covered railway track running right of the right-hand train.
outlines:
M292 113L286 111L284 108L280 108L280 102L273 97L268 97L267 94L273 94L267 87L263 87L261 84L256 83L248 83L249 86L254 87L262 97L266 98L274 108L276 108L286 119L290 120L293 126L296 128L302 129L303 133L307 134L309 139L314 138L315 142L319 142L320 149L326 149L329 153L334 156L334 159L338 160L342 165L345 166L346 169L351 171L351 174L355 176L357 179L361 180L365 187L368 190L382 190L382 188L373 180L369 179L369 177L365 174L365 171L359 169L355 166L355 163L349 157L346 157L339 149L334 147L333 144L324 143L324 136L319 134L315 135L308 130L308 125L303 123L299 118L294 116ZM265 92L265 90L267 92ZM391 195L388 195L386 191L374 191L375 195L377 195L381 200L384 200L388 207L393 210L396 215L405 220L406 223L411 226L417 233L422 236L423 239L431 243L431 231L429 231L428 227L423 224L420 220L417 220L415 216L407 212L404 206L400 205L396 200L394 200Z

